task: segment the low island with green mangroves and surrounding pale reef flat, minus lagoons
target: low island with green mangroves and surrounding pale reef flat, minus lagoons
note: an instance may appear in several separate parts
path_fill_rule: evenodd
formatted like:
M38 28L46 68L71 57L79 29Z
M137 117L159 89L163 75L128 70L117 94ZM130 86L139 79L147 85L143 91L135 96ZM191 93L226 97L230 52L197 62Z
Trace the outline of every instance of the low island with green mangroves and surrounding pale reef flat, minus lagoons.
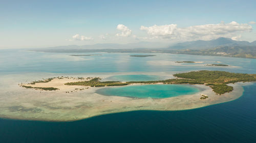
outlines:
M202 72L203 77L209 74L212 74L212 76L207 79L200 78L199 75L201 76ZM212 72L215 72L215 74ZM101 81L101 79L116 75L117 73L63 74L63 76L55 76L55 78L52 77L54 74L42 74L40 77L45 76L45 79L37 81L34 80L35 77L32 75L6 75L2 77L2 79L8 82L3 84L4 90L1 91L0 117L61 122L132 110L193 109L237 99L243 94L242 85L250 83L244 82L255 81L255 74L212 72L154 73L154 75L171 74L176 78L130 82ZM231 75L232 77L230 77ZM189 79L187 76L189 76ZM19 77L18 82L17 77ZM36 78L38 79L38 75ZM29 80L32 81L29 82ZM193 95L161 99L104 96L96 93L98 89L109 88L116 84L123 84L123 86L185 84L200 89L200 92ZM26 87L31 88L27 89ZM40 88L56 88L57 90L44 90Z

